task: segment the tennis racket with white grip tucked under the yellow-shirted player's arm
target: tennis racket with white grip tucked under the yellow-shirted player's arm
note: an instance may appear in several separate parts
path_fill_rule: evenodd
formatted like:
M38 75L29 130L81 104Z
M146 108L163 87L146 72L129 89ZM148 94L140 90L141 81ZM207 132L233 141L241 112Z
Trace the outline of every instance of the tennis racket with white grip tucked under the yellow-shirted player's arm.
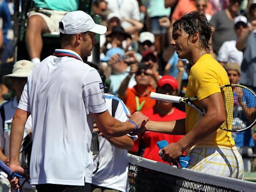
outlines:
M241 132L253 127L256 124L256 94L240 84L222 85L220 90L227 119L219 128L226 131ZM196 96L181 97L151 92L150 98L176 103L182 102L204 115L204 111L193 103L197 99Z

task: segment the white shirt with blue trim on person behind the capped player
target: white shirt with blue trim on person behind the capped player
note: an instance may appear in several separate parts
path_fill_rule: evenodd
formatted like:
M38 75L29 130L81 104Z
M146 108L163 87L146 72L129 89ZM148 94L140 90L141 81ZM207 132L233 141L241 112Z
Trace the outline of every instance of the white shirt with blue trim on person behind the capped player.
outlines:
M125 122L128 120L126 114L129 114L128 109L121 99L118 97L106 94L104 95L106 106L109 113L112 115L112 100L118 100L118 105L114 113L114 118ZM131 136L133 140L137 136ZM101 136L99 140L99 154L94 155L94 170L98 170L92 175L92 184L107 188L112 188L119 191L127 190L128 176L128 158L127 150L113 146L106 138Z

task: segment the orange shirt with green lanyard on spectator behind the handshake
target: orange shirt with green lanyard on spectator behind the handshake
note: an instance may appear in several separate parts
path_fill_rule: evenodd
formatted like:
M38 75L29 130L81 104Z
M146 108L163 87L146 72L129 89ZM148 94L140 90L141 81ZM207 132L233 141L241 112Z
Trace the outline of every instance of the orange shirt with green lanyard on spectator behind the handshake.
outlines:
M132 88L126 89L126 97L125 97L124 103L129 109L130 113L152 108L156 100L151 99L149 95L150 95L150 92L155 92L155 89L151 86L148 86L147 93L145 95L140 95L136 91L135 87L136 85L133 86ZM136 99L137 99L137 102L136 102Z

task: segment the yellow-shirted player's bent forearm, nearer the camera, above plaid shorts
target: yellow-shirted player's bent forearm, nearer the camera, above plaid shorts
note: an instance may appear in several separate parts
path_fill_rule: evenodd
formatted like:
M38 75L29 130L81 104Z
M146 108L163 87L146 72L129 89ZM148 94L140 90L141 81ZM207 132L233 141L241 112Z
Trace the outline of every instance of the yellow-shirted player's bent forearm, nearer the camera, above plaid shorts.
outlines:
M205 114L192 130L178 141L180 146L183 149L190 148L202 138L214 133L224 121L225 117L220 114Z

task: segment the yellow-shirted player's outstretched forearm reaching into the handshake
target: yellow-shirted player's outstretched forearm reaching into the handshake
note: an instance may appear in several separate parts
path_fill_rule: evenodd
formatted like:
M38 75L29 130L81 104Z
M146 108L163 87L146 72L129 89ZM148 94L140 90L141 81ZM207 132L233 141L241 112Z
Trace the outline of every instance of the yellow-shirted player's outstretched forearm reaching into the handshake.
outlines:
M149 120L146 122L146 130L175 135L185 134L185 119L165 122Z

